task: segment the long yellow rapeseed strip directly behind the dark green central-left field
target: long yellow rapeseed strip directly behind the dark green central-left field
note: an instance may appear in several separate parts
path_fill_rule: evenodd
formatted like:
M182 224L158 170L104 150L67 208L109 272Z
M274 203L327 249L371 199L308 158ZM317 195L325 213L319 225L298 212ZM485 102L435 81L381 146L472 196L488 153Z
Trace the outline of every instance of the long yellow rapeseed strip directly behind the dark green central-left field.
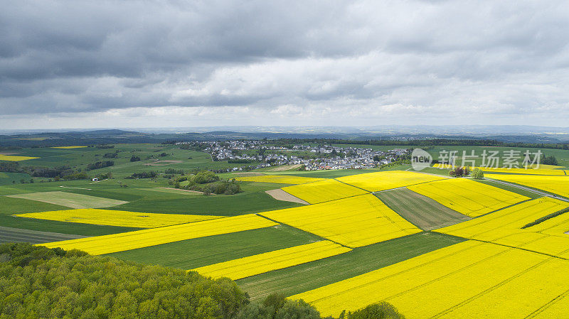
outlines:
M100 255L275 225L278 224L266 218L248 214L218 218L216 220L192 222L189 224L143 229L134 232L123 232L120 234L50 242L47 244L38 244L38 246L46 246L49 248L61 247L65 250L80 249L92 255Z

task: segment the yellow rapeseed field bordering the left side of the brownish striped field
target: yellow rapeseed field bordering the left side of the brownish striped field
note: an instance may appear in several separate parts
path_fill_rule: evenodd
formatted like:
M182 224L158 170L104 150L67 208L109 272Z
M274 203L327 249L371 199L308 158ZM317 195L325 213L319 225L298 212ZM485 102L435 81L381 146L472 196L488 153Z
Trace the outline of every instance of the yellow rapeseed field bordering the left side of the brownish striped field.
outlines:
M361 247L421 232L372 194L261 212L277 222L348 247Z

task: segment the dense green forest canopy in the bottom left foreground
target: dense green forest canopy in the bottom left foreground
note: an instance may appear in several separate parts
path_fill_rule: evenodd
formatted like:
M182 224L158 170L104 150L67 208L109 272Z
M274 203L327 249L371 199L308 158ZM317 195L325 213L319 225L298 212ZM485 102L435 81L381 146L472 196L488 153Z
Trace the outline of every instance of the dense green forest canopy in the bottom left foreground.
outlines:
M85 252L0 245L0 318L320 319L304 301L272 294L250 302L227 278ZM379 303L341 318L404 318Z

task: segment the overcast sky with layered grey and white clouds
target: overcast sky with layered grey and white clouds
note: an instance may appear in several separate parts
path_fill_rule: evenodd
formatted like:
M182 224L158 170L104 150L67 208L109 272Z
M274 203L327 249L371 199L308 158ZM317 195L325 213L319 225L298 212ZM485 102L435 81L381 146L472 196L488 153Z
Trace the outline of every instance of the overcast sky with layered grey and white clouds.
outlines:
M569 1L0 4L1 129L569 126Z

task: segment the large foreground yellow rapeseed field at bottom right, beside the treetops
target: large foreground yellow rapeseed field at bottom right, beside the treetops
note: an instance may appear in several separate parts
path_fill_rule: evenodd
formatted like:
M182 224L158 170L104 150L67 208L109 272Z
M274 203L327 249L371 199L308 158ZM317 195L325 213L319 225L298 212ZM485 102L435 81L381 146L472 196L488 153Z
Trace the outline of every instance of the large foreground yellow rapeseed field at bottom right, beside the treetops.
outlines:
M324 316L387 301L410 319L526 318L555 304L568 276L569 261L467 241L291 298Z

